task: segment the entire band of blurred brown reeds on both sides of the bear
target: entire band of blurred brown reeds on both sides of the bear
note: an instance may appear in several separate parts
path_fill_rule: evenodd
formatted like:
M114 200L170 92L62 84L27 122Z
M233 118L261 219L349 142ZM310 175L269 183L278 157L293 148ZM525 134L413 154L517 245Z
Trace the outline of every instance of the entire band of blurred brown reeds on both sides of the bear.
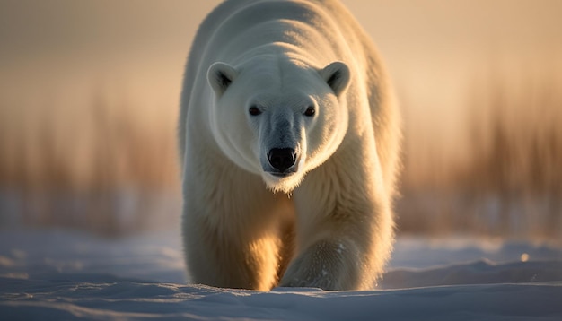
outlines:
M406 134L400 234L562 239L562 80L548 71L517 79L475 78L466 127L442 133L458 135L454 146ZM0 100L0 226L120 235L177 224L175 119L167 117L176 106L154 107L166 117L138 117L135 104L103 90L81 106L44 101Z

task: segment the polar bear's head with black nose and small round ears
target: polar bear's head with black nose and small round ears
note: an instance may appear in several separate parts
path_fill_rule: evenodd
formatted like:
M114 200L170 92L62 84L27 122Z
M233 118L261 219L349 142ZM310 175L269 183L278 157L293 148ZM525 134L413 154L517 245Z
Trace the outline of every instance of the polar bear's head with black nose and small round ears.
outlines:
M343 141L348 115L340 97L349 78L341 62L321 69L271 58L237 67L215 63L207 73L215 140L271 190L290 193Z

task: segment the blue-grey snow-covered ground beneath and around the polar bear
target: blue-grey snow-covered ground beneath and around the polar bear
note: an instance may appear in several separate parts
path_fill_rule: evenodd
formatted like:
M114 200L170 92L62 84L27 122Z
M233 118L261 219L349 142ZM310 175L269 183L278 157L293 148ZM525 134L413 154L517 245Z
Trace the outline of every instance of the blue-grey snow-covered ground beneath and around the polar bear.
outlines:
M0 230L2 320L562 320L562 248L398 239L374 291L189 284L178 232Z

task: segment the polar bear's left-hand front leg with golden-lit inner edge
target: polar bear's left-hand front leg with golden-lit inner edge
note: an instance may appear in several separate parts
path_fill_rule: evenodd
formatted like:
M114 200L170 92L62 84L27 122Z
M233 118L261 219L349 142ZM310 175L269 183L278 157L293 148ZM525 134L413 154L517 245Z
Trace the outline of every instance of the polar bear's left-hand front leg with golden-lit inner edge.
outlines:
M241 169L216 178L188 169L183 239L191 281L270 290L278 281L280 217L293 211L288 199ZM220 173L217 169L211 173Z

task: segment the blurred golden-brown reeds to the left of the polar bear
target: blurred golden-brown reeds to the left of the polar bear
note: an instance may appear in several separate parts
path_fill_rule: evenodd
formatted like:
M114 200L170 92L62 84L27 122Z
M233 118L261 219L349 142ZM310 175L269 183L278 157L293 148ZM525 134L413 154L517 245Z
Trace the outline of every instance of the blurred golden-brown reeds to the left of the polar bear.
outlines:
M173 127L101 91L81 106L1 110L0 225L119 235L179 216Z

